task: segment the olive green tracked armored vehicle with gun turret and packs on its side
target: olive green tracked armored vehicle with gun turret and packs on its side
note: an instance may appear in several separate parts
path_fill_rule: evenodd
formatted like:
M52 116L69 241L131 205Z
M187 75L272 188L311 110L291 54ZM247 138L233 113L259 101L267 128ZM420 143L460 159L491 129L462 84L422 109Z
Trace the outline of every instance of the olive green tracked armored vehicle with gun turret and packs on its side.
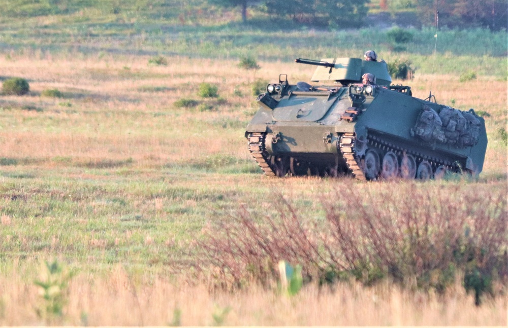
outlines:
M478 175L487 134L483 118L430 95L391 85L385 62L359 58L320 61L314 85L281 74L259 95L245 137L266 175L352 175L361 180ZM375 83L362 77L371 74ZM362 82L363 81L363 82Z

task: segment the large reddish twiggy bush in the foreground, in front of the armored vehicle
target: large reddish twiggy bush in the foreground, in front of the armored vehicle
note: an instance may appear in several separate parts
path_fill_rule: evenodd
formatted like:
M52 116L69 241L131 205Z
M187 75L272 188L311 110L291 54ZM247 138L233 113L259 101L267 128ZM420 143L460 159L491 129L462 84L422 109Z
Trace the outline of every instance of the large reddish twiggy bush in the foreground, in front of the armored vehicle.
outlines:
M494 280L508 278L503 191L420 187L370 190L346 183L322 195L324 221L306 220L282 195L273 197L267 214L243 204L231 220L205 232L202 267L221 268L221 279L236 285L270 284L276 264L287 261L300 264L307 280L356 278L370 285L387 277L438 292L463 272L464 287L479 304Z

